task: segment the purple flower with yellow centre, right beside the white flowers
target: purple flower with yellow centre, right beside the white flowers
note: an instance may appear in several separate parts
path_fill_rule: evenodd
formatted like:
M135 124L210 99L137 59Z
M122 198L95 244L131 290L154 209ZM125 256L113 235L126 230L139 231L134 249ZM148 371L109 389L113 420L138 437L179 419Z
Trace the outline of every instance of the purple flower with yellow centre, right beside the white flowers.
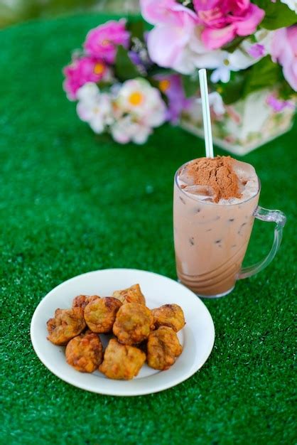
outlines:
M180 113L183 109L189 107L192 102L192 100L185 97L181 77L177 74L173 74L158 75L155 78L159 82L158 87L161 92L163 92L168 99L166 120L172 124L178 124Z

